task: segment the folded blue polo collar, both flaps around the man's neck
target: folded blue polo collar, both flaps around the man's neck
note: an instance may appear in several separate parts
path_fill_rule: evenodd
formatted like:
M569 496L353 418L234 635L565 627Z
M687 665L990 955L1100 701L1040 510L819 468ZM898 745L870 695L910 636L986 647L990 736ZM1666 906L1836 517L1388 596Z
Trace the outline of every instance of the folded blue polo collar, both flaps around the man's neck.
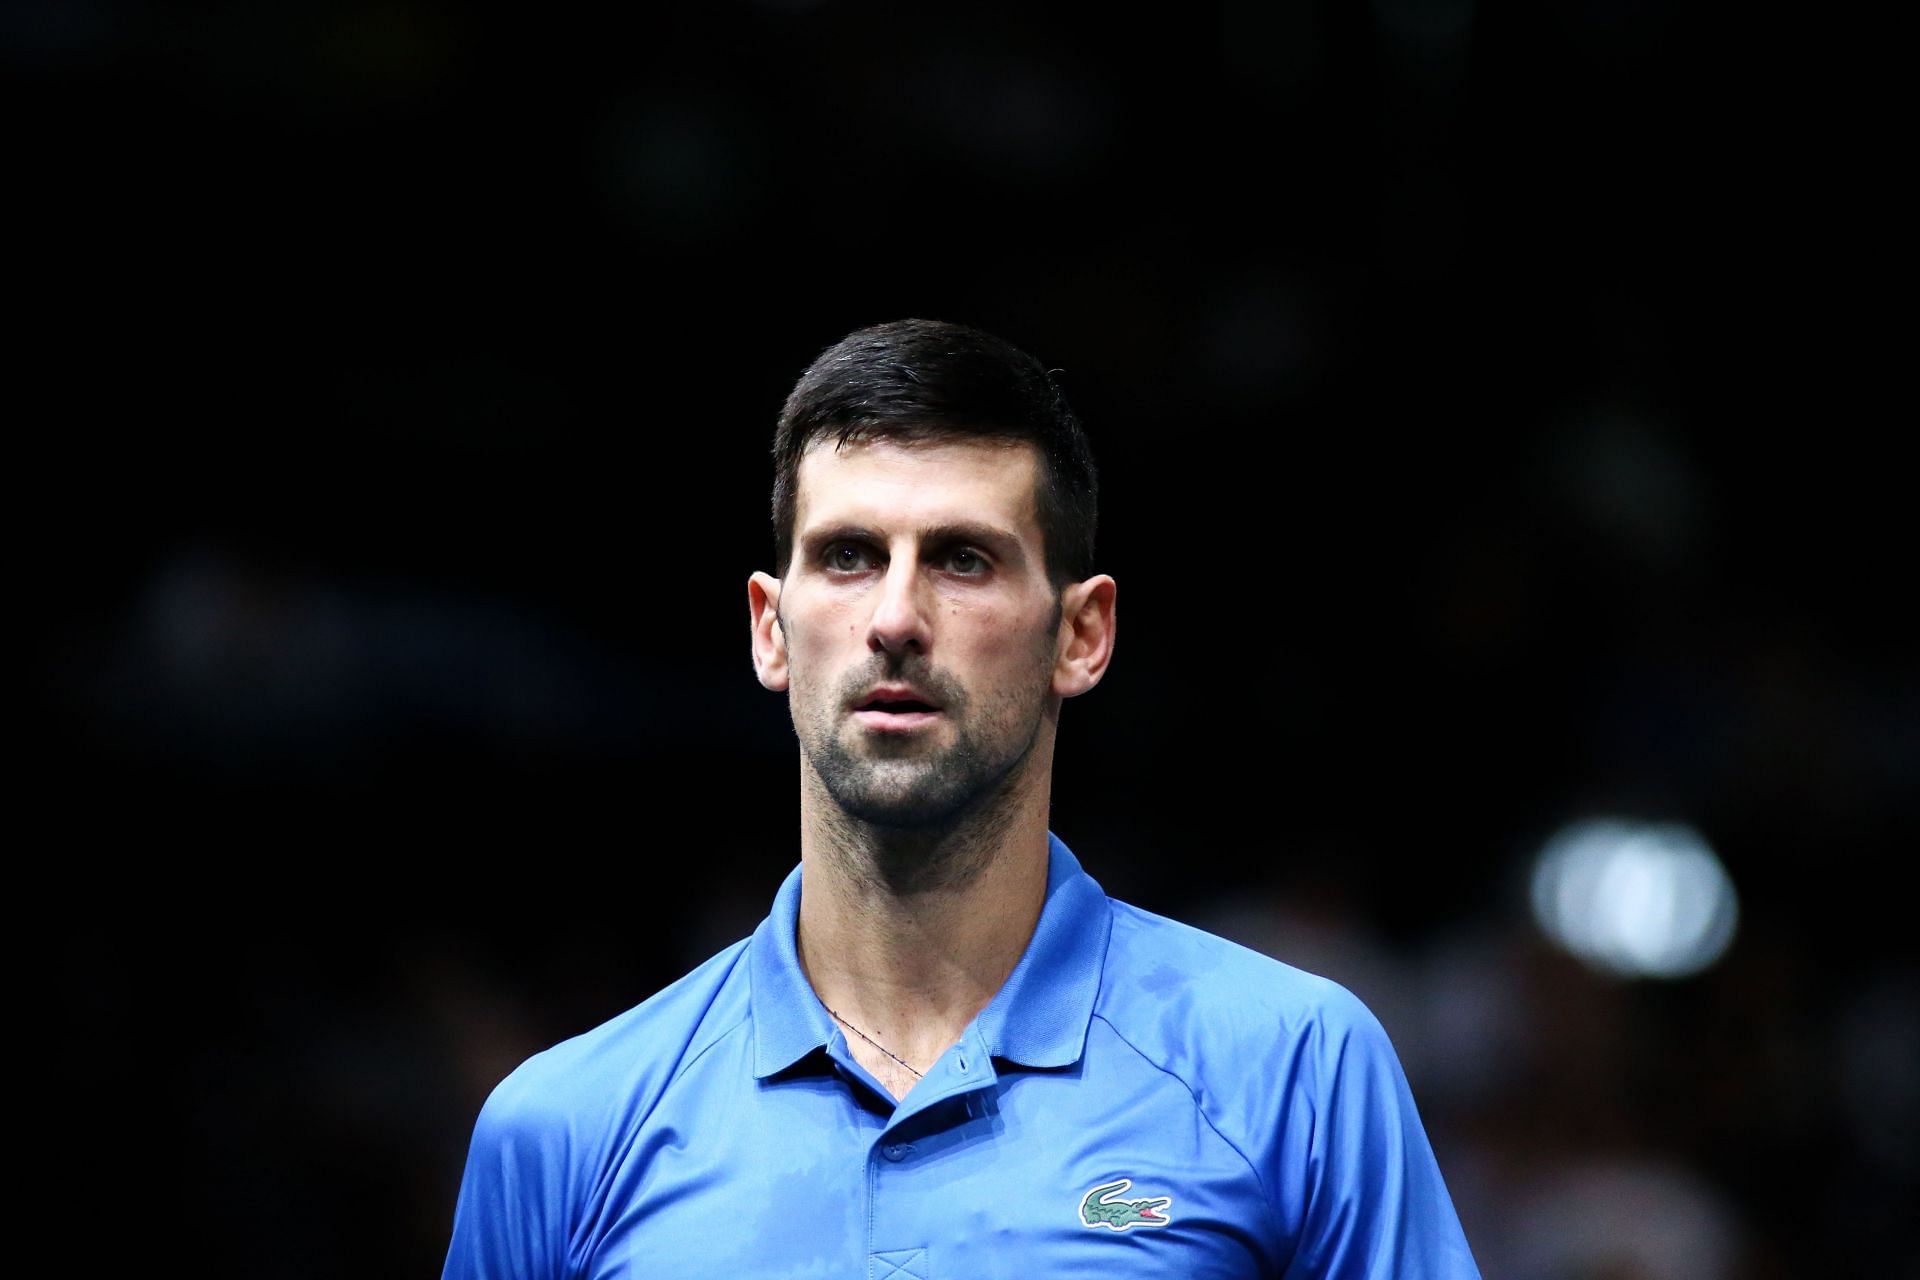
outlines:
M793 867L749 948L753 1075L760 1080L826 1048L833 1036L833 1019L801 969L799 919L801 867ZM1112 927L1106 892L1048 831L1046 902L1033 938L968 1031L977 1029L995 1057L1023 1067L1077 1063Z

